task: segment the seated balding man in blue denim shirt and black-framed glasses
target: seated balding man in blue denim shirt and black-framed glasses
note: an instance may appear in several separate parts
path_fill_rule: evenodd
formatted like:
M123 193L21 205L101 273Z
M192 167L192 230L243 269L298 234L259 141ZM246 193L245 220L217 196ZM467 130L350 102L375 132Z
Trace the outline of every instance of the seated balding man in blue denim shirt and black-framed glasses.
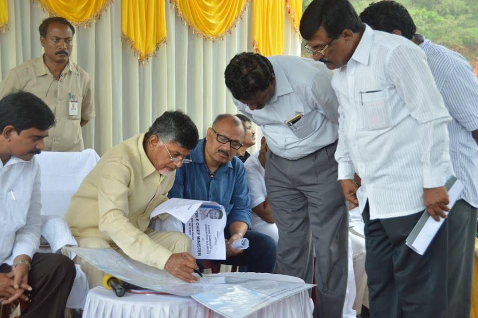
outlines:
M250 272L272 273L276 256L274 240L250 230L249 189L244 165L236 157L244 134L238 117L231 114L216 117L206 138L191 151L192 163L176 170L169 198L214 201L224 206L227 258L219 261L245 265ZM240 246L242 238L248 239L248 248Z

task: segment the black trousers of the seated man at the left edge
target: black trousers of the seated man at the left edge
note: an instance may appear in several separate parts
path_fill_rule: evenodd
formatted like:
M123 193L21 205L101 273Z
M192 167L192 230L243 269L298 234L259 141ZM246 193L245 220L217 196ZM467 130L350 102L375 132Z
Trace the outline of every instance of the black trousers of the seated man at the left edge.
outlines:
M0 273L11 271L10 265L1 264ZM73 261L61 254L36 253L33 255L28 285L32 291L27 310L22 318L64 318L76 269Z

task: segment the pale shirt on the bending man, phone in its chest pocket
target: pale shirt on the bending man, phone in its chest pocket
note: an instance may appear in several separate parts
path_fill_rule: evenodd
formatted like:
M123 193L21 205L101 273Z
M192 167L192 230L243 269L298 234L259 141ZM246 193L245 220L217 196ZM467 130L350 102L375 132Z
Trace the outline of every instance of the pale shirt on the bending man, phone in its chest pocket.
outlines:
M325 65L297 56L269 56L274 69L275 93L262 109L250 110L234 99L239 111L260 126L269 149L295 160L337 140L338 103L331 86L332 71ZM294 130L285 122L303 117Z

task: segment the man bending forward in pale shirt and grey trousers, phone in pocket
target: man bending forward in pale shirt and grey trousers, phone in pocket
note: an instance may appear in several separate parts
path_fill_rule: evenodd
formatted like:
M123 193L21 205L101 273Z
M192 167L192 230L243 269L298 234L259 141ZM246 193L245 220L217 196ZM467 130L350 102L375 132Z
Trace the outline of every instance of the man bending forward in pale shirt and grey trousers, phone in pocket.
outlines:
M342 316L348 272L348 219L334 159L338 103L332 72L297 56L240 53L226 86L267 140L265 184L279 229L280 274L312 283L316 317Z

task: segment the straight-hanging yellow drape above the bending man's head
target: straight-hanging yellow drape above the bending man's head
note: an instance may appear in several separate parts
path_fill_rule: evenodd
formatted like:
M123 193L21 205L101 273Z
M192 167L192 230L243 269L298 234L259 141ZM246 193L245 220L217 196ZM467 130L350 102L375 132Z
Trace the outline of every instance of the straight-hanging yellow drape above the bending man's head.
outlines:
M280 0L252 1L252 45L264 56L280 55L284 49L285 4Z

